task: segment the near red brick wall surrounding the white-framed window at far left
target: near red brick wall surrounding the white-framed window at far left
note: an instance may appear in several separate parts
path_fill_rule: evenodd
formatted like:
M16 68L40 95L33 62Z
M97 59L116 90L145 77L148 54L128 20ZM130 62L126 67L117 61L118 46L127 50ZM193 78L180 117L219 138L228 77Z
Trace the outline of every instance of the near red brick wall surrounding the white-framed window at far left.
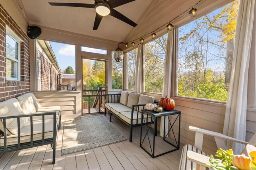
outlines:
M21 73L20 81L6 80L6 25L12 29L21 39ZM29 39L12 19L12 17L0 5L0 102L15 98L29 92Z

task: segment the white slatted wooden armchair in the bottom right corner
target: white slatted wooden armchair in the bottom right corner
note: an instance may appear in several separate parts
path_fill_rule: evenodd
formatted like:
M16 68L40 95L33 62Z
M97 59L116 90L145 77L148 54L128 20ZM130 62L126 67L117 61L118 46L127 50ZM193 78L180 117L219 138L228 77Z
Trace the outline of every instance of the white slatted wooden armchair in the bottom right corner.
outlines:
M232 137L228 137L221 133L212 132L212 131L200 129L197 127L190 126L189 130L196 132L195 144L194 144L194 146L185 145L183 147L181 158L180 158L179 170L190 170L190 169L191 170L206 170L206 169L208 169L206 166L204 166L204 164L209 163L209 157L204 152L202 152L204 134L213 136L217 147L224 149L224 150L227 150L224 140L242 143L244 145L247 145L247 144L250 144L253 146L256 145L256 133L253 135L252 139L250 139L249 142L245 142L245 141L240 141L240 140L232 138ZM242 153L247 155L246 148L242 151Z

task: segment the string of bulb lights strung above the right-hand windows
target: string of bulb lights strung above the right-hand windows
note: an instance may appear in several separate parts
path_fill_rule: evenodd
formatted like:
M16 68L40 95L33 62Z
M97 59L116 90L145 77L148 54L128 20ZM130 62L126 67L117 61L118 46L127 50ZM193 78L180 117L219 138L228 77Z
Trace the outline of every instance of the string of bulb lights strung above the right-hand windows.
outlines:
M142 38L137 38L134 39L132 41L129 41L128 43L132 42L132 46L135 46L135 42L136 40L140 39L141 42L144 41L143 37L148 37L148 35L151 35L151 38L154 39L156 37L156 33L159 29L161 29L162 27L166 26L168 31L171 31L173 29L173 25L171 23L173 23L174 21L178 20L179 18L181 18L182 16L184 16L184 14L190 14L190 17L193 18L194 16L196 16L196 8L194 8L195 6L198 6L200 4L202 4L204 1L206 0L199 0L198 2L196 2L193 6L191 6L190 8L186 9L184 12L182 12L181 14L179 14L178 16L176 16L175 18L173 18L172 20L168 21L167 23L165 23L164 25L158 27L157 29L155 29L154 31L151 31L150 33L147 33L146 35L143 35ZM188 13L187 13L188 12ZM161 29L162 30L162 29Z

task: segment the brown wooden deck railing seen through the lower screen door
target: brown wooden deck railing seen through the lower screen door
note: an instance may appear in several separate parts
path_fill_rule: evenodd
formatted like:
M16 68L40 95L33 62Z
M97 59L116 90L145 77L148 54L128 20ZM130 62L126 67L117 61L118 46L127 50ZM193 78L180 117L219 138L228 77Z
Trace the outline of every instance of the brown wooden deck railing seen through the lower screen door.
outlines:
M88 106L88 114L91 113L90 102L91 100L93 100L92 98L94 98L92 108L98 108L98 112L94 112L94 113L104 113L101 110L101 107L104 107L105 93L106 93L106 89L103 87L99 87L98 90L83 90L83 97L88 98L88 105L84 103L85 107ZM83 109L85 108L83 107Z

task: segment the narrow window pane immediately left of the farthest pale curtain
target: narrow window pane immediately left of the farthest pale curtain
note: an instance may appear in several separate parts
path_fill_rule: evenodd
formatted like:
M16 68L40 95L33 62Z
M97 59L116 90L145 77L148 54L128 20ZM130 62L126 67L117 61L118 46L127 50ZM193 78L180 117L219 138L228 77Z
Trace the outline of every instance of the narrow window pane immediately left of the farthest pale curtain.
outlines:
M138 48L127 53L128 56L128 90L135 90L135 70Z

